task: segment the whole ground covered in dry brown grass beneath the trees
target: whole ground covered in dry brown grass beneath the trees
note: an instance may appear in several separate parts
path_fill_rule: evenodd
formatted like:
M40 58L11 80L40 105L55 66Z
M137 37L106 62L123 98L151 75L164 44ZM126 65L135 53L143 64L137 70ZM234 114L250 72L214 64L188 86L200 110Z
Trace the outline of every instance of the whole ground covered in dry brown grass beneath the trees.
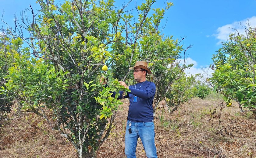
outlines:
M119 107L116 126L98 151L98 158L124 158L128 100ZM72 144L33 113L13 112L0 128L0 157L73 158ZM256 117L226 107L220 99L194 98L173 114L160 105L155 119L159 158L256 158ZM146 158L140 139L137 158Z

